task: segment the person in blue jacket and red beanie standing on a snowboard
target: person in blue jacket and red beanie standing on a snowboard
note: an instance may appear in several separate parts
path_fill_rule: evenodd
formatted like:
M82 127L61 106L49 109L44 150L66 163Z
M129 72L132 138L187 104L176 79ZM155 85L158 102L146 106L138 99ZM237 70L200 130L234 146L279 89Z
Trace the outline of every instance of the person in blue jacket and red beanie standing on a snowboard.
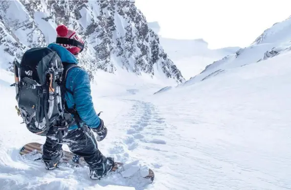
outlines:
M67 29L65 25L59 25L56 31L56 43L49 44L48 48L59 55L64 67L69 64L78 64L77 56L81 51L78 44L84 46L84 41L75 31ZM61 43L59 43L60 41ZM106 137L107 128L94 110L88 73L80 67L69 69L66 89L64 98L67 108L76 111L79 117L79 125L74 124L68 128L67 135L63 137L63 142L68 145L71 152L84 157L90 168L90 178L98 180L112 170L114 161L111 157L105 157L97 147L96 141L101 141ZM96 138L93 132L97 134ZM42 157L46 169L56 169L62 156L62 144L59 143L56 136L48 133L43 146Z

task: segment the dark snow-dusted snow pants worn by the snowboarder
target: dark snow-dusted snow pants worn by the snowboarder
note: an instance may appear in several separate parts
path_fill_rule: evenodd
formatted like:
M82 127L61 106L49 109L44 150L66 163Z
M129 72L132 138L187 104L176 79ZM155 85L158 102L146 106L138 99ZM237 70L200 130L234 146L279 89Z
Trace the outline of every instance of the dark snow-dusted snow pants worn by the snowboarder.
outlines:
M75 129L68 132L63 141L74 154L84 157L84 160L90 167L102 176L106 169L106 157L98 150L97 141L90 128ZM55 160L60 159L62 144L58 143L58 136L50 131L46 135L46 141L43 146L43 159Z

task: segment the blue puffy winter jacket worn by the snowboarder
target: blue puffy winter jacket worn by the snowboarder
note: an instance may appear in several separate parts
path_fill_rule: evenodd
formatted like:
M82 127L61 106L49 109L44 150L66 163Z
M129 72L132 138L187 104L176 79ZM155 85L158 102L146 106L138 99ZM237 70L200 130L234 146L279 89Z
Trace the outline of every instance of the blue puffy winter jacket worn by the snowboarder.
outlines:
M78 59L67 51L66 48L54 43L49 44L47 47L57 52L59 57L61 57L62 62L78 64ZM73 95L68 92L65 94L67 107L73 108L74 105L76 105L76 110L86 125L90 128L97 128L101 121L94 110L90 89L90 79L87 72L79 67L70 69L67 72L66 87L73 92ZM83 124L84 123L81 123L81 125ZM77 128L77 125L73 125L69 130Z

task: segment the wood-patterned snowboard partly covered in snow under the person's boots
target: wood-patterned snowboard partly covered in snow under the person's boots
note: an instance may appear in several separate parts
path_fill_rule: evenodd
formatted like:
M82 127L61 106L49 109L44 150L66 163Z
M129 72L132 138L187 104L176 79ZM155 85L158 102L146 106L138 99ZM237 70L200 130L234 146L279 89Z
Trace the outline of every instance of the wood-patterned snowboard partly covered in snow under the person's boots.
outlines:
M25 154L37 154L40 153L43 154L43 144L32 142L24 145L22 149L20 150L20 155ZM41 155L39 159L41 160ZM35 160L35 161L36 161ZM83 157L79 157L76 154L72 152L68 152L64 150L64 156L61 158L60 163L66 163L67 166L73 166L73 167L84 167L88 166L85 162ZM124 178L130 178L132 175L134 175L136 172L140 171L140 175L145 178L149 179L150 182L154 181L155 173L151 169L148 169L147 167L141 169L139 166L137 166L138 160L134 161L132 163L121 163L121 162L114 162L114 166L112 168L112 172L118 172L121 173L121 175Z

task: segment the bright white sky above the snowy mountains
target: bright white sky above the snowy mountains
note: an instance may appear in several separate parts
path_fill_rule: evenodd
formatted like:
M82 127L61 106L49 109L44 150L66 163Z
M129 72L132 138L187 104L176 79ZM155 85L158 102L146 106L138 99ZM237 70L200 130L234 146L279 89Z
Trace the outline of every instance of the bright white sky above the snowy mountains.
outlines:
M291 16L291 0L135 0L165 38L203 38L209 48L246 47Z

